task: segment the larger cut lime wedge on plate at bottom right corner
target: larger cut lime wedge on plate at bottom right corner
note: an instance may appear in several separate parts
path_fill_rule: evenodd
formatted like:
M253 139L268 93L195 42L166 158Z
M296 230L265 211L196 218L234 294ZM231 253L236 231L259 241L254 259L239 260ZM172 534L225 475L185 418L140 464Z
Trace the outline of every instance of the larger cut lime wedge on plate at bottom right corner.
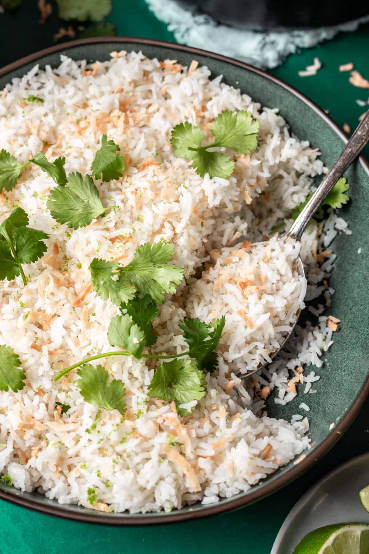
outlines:
M311 531L293 554L368 554L369 525L349 523L327 525Z

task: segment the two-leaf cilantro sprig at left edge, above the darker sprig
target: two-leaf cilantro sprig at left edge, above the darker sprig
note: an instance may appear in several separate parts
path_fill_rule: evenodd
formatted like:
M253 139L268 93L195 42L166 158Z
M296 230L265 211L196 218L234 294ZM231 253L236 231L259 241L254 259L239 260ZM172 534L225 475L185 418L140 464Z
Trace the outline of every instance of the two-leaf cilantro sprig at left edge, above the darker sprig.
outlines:
M30 163L35 163L41 170L46 171L55 183L62 186L66 183L65 158L56 158L54 162L49 162L48 158L42 152L39 152L31 160L18 163L17 158L3 149L0 151L0 192L3 189L8 192L12 191L17 184L20 173Z

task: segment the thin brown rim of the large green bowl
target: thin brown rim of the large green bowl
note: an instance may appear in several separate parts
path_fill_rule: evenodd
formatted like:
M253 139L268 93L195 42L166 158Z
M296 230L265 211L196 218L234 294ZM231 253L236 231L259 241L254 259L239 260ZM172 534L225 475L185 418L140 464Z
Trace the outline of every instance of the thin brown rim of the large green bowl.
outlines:
M44 48L43 50L39 50L38 52L29 54L24 58L20 58L19 60L14 61L13 63L8 64L3 68L0 68L0 77L6 75L7 73L10 73L15 69L21 68L25 64L35 62L40 58L43 58L49 54L54 54L56 52L68 50L69 48L74 48L76 46L109 43L109 42L122 43L122 45L124 43L131 43L131 44L133 43L137 45L159 46L164 48L170 48L172 50L178 50L179 52L188 52L195 55L202 55L208 58L224 61L227 64L238 65L243 69L246 69L248 71L251 71L252 73L261 75L264 78L268 79L269 81L272 81L273 83L279 86L282 86L282 88L284 88L289 93L296 96L299 100L302 100L313 111L315 111L316 114L318 114L331 127L331 129L335 131L335 133L340 137L340 139L342 139L345 143L348 140L345 132L341 130L341 128L336 124L336 122L332 120L332 118L328 114L326 114L326 112L323 109L321 109L318 105L316 105L315 102L310 100L307 96L300 93L300 91L295 89L293 86L288 85L287 83L284 83L284 81L278 79L274 75L270 75L266 71L263 71L262 69L259 69L251 64L247 64L243 61L236 60L234 58L229 58L227 56L213 53L213 52L208 52L207 50L202 50L200 48L193 48L183 44L176 44L165 40L155 40L155 39L148 39L148 38L126 37L126 36L96 37L96 38L71 40L70 42L57 44L49 48ZM367 173L367 176L369 177L369 163L366 161L366 159L363 156L360 156L358 160L360 161L361 166L363 167L363 170ZM339 440L342 434L346 432L346 430L350 427L352 422L354 422L354 419L356 418L357 414L359 413L363 403L365 402L368 396L369 396L369 374L366 378L366 381L360 393L358 393L358 396L355 399L352 406L347 410L345 416L342 417L339 424L336 425L336 427L334 428L334 431L332 430L332 432L328 435L328 437L326 437L323 440L323 442L318 447L316 447L316 449L314 450L314 456L306 456L306 458L304 458L298 464L294 465L293 468L287 471L287 473L280 475L277 479L272 481L272 483L266 483L263 486L263 488L258 490L251 490L251 492L248 493L247 495L243 495L237 499L228 500L227 504L215 504L212 506L211 505L204 506L204 508L199 511L186 511L186 512L174 511L174 512L171 512L170 514L165 514L165 516L163 517L158 517L158 514L156 515L137 514L134 517L132 516L127 517L126 515L124 515L124 513L122 513L122 515L114 515L112 517L111 515L104 514L101 512L79 513L79 512L69 511L64 509L63 504L59 504L55 507L50 506L49 504L41 504L40 502L23 498L21 496L22 493L17 493L17 495L12 495L2 489L0 489L0 499L6 500L7 502L11 502L11 504L15 504L18 506L28 508L30 510L40 512L42 514L53 515L56 517L61 517L63 519L89 522L94 524L115 525L115 526L165 524L165 523L173 523L173 522L180 522L180 521L191 521L195 519L202 519L203 517L209 517L215 514L220 514L222 512L227 512L230 510L234 510L237 508L241 508L243 506L253 504L253 502L256 502L257 500L261 500L264 497L277 492L279 489L282 489L283 486L291 483L294 479L297 479L312 465L314 465L316 461L318 461L324 454L326 454L328 450L330 450L334 446L334 444Z

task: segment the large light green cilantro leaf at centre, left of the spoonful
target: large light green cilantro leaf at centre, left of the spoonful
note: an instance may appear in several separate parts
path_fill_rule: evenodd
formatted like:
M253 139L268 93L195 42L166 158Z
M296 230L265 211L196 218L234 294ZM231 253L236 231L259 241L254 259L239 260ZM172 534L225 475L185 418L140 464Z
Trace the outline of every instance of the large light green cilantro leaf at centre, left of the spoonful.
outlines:
M167 265L174 255L173 244L144 243L134 253L133 260L119 273L123 281L132 283L139 297L149 294L157 304L164 302L164 293L175 293L183 279L183 269Z

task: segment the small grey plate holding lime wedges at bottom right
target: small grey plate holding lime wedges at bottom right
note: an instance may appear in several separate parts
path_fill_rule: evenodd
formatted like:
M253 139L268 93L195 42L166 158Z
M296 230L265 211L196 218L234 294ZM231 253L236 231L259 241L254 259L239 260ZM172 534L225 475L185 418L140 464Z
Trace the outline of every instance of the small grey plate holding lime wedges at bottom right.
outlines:
M358 491L369 484L369 453L346 461L312 486L284 520L271 554L292 554L310 531L336 523L369 524ZM290 485L293 486L293 485Z

